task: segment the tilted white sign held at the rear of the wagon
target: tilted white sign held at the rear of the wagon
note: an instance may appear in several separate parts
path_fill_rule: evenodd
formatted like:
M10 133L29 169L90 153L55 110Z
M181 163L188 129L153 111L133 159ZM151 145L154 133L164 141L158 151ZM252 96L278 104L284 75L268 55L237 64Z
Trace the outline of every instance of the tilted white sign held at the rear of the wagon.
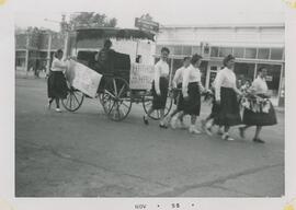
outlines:
M75 60L68 62L67 81L82 93L94 97L102 79L102 74L93 71Z

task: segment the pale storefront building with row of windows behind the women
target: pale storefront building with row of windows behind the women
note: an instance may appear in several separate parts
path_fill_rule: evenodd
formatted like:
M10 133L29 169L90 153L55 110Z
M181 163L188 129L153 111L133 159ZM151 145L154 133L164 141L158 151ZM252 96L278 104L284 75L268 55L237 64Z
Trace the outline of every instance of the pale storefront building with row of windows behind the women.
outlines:
M200 25L163 26L157 36L156 57L161 47L171 51L172 74L182 66L185 56L200 54L202 81L210 85L217 70L223 68L223 59L231 54L236 57L235 72L239 81L252 81L260 67L266 67L266 82L275 105L284 105L285 78L285 25Z

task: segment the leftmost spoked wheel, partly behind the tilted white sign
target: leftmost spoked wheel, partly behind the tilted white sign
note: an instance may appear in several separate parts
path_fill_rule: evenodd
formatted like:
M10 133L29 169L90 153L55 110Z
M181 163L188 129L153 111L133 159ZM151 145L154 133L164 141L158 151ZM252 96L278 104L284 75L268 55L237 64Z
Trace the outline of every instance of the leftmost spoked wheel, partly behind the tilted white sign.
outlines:
M69 112L76 112L82 105L84 94L80 91L70 88L67 97L61 101L62 106Z

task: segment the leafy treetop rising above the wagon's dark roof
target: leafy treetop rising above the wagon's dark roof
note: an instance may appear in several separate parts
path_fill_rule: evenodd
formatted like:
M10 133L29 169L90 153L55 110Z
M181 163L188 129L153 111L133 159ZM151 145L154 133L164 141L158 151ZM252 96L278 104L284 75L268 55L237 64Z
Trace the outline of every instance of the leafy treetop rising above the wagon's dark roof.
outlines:
M91 26L91 27L115 27L117 20L115 18L107 19L105 14L94 12L80 12L71 15L70 25L76 26Z

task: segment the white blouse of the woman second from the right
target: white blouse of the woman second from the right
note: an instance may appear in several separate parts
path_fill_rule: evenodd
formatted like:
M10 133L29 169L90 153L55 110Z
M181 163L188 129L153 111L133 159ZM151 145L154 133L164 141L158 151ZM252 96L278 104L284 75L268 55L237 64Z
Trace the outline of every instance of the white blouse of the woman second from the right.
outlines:
M234 89L235 91L237 90L237 77L235 72L227 67L221 69L215 79L215 96L217 101L220 101L220 89L221 88L229 88Z

